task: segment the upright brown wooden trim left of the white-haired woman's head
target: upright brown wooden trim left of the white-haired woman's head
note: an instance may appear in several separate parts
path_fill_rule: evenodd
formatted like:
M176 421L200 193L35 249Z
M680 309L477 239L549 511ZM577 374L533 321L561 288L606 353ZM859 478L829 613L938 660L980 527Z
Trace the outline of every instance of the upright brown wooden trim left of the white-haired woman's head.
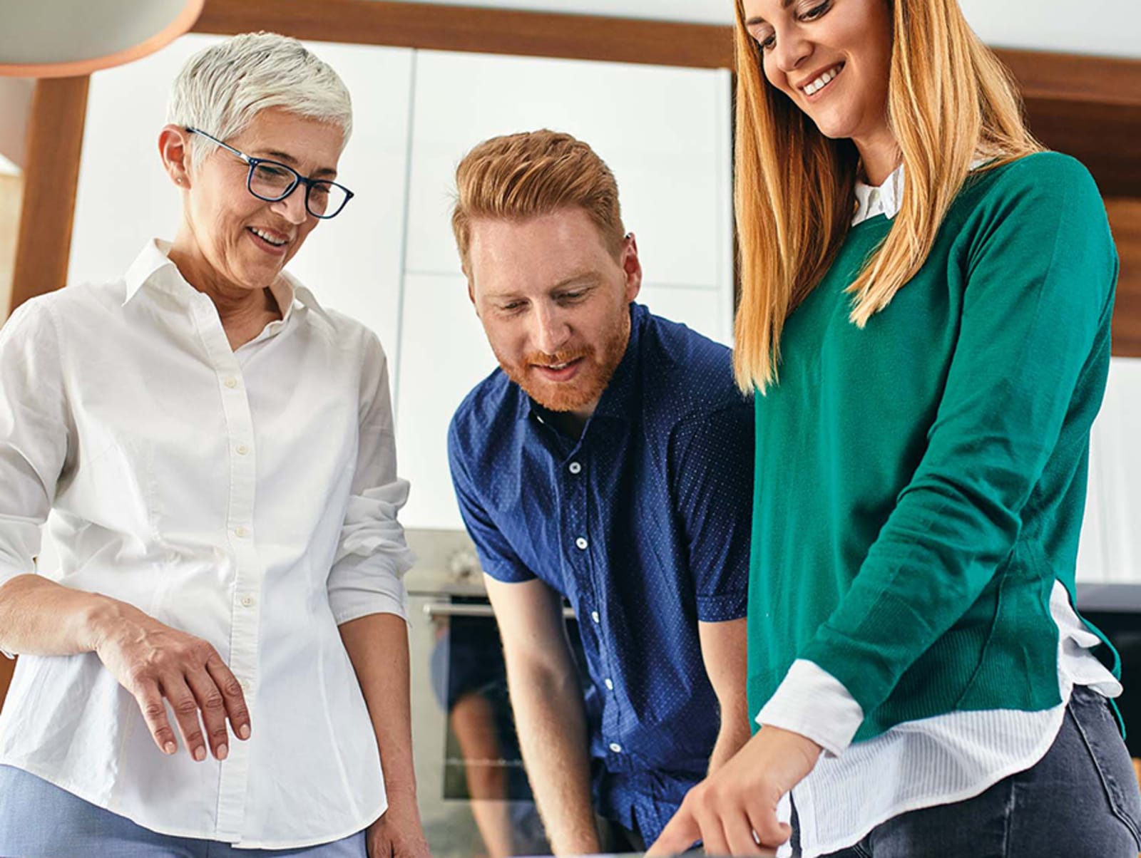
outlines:
M88 78L40 80L32 96L11 308L67 282Z

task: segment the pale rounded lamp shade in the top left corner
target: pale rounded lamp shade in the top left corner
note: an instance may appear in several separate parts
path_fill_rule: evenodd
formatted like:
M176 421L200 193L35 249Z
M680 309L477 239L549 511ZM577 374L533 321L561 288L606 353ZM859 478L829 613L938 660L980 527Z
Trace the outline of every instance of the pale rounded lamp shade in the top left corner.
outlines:
M0 75L71 78L153 54L204 0L0 0Z

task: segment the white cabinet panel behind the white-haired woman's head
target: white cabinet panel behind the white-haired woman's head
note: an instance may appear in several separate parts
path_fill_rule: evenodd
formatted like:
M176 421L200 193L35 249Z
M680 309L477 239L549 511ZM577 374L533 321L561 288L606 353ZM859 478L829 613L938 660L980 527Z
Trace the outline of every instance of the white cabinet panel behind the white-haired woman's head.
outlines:
M175 75L193 54L219 41L186 35L91 76L68 282L119 277L147 238L173 237L179 192L162 169L159 131ZM314 229L288 269L324 306L377 331L395 362L413 51L329 42L308 47L353 94L354 131L340 180L356 196Z

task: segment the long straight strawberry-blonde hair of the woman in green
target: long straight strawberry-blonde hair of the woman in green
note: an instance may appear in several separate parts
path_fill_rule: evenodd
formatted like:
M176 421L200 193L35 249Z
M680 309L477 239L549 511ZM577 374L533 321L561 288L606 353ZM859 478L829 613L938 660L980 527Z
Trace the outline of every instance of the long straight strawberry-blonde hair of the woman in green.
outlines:
M957 0L884 0L892 15L888 121L904 164L903 208L848 291L860 327L926 260L939 226L984 157L1038 152L1017 86L968 26ZM735 204L741 261L734 369L743 390L777 381L785 319L820 282L848 234L858 153L831 140L764 80L736 0Z

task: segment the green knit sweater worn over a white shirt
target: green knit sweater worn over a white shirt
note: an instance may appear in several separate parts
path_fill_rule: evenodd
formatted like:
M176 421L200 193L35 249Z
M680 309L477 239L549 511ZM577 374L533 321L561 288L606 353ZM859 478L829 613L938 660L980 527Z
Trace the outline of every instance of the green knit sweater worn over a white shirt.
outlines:
M1074 592L1117 256L1077 161L973 175L926 262L864 330L851 228L756 396L755 713L796 658L864 710L856 740L956 710L1059 704L1054 580Z

